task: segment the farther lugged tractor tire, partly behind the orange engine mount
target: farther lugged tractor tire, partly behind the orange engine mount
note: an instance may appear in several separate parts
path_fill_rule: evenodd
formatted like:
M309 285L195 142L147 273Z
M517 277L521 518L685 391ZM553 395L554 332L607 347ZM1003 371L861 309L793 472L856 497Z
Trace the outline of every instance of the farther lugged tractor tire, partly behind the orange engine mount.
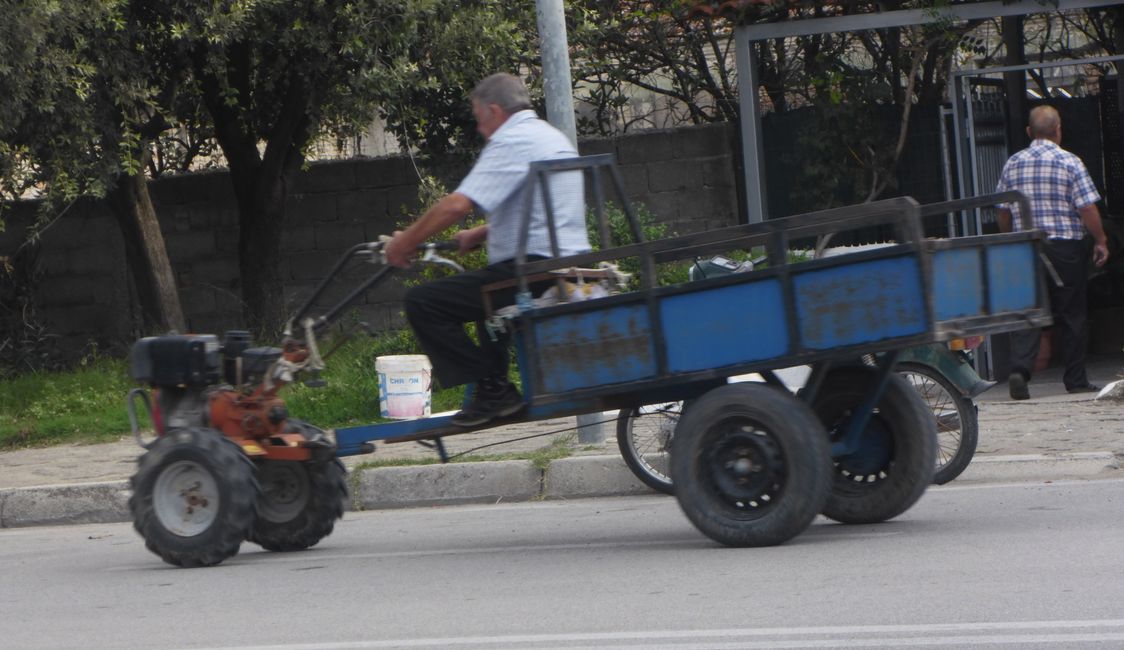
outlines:
M306 439L323 436L315 426L290 421ZM302 551L332 534L347 503L347 470L338 459L257 460L257 520L246 539L269 551Z

